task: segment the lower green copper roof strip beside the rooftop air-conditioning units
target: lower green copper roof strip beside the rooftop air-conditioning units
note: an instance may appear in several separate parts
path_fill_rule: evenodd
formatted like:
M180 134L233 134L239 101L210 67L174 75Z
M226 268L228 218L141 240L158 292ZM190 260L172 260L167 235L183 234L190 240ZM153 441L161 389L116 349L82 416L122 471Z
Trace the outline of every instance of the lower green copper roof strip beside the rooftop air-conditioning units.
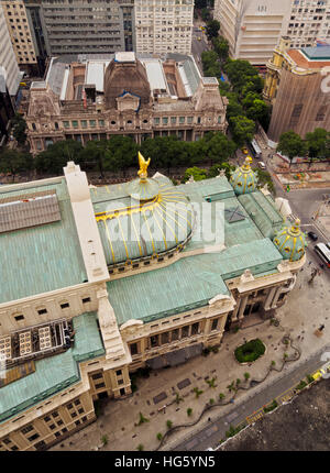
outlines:
M77 362L105 353L96 312L75 317L74 328L73 348L36 361L34 373L0 388L0 422L77 383L80 380Z

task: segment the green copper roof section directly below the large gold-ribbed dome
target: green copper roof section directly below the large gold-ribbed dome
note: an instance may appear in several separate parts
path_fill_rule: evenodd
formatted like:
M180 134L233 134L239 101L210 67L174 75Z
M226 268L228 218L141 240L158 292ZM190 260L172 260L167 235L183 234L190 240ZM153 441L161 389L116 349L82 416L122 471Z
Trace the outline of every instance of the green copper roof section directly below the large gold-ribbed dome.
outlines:
M200 256L107 283L118 323L148 322L206 306L217 294L229 294L218 267Z

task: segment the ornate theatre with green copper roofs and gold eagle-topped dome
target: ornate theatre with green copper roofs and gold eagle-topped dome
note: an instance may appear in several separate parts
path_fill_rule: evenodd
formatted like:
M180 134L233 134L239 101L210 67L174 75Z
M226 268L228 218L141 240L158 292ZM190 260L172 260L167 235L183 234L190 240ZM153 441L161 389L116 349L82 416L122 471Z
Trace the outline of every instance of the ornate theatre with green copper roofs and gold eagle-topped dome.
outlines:
M249 160L230 182L179 186L139 162L127 184L89 186L70 162L1 187L1 451L61 441L95 420L94 400L130 395L131 372L274 317L295 285L299 221L257 190Z

